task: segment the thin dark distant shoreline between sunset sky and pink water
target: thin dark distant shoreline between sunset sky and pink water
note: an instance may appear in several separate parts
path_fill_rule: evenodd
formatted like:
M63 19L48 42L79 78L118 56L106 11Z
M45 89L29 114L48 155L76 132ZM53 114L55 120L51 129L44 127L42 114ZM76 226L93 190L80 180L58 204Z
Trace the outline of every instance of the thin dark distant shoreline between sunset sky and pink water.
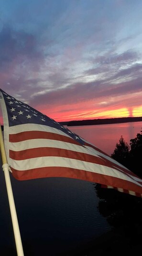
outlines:
M59 122L61 125L78 126L78 125L98 125L98 124L111 124L123 122L141 122L142 117L120 117L120 118L106 118L106 119L91 119L80 121Z

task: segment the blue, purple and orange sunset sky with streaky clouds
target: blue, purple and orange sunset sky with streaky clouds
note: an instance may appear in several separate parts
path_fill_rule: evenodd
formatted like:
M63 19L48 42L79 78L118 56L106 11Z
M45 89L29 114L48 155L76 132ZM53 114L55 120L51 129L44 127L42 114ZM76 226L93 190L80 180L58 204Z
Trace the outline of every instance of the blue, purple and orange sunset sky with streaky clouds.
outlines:
M142 116L142 0L0 0L0 88L57 122Z

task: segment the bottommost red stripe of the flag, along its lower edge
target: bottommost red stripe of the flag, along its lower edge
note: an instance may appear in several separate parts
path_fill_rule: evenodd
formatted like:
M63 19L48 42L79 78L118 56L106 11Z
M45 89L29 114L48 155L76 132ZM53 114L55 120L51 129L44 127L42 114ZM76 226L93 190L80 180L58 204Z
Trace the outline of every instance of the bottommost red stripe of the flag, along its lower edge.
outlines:
M122 188L142 194L142 187L130 182L112 176L92 173L84 170L78 170L69 167L41 167L34 168L26 171L17 171L13 168L12 175L18 180L27 180L34 178L47 178L47 177L62 177L62 178L77 178L90 182L100 183L106 186Z

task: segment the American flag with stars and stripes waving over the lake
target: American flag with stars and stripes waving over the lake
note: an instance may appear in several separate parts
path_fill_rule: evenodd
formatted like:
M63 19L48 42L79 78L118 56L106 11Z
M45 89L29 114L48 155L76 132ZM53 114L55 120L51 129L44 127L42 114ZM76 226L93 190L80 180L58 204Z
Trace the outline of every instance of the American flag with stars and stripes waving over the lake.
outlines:
M142 197L142 179L95 145L1 89L0 103L14 178L77 178Z

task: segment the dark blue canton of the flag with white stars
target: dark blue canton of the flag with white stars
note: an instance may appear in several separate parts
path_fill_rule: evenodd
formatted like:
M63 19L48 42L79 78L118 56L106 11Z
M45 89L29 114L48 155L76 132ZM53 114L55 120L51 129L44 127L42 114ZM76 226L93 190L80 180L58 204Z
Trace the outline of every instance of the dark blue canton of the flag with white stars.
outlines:
M14 126L18 124L24 123L36 123L36 124L44 124L50 127L54 127L65 134L68 134L70 137L75 139L80 144L84 145L84 141L76 134L68 130L66 127L60 125L58 122L55 122L52 118L42 114L41 112L33 109L29 105L23 103L20 100L16 100L11 97L7 93L3 92L3 98L5 100L9 126Z

